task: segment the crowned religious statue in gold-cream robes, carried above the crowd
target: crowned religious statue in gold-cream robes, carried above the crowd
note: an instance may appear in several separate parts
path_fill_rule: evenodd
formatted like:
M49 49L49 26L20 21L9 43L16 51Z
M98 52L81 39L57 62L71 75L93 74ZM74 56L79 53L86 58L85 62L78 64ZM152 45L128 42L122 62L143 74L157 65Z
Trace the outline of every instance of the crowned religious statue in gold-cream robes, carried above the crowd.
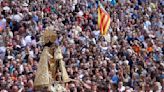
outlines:
M47 87L50 92L65 92L62 83L71 79L65 68L61 48L54 44L56 38L56 33L49 29L41 36L44 48L35 74L34 87L38 89Z

